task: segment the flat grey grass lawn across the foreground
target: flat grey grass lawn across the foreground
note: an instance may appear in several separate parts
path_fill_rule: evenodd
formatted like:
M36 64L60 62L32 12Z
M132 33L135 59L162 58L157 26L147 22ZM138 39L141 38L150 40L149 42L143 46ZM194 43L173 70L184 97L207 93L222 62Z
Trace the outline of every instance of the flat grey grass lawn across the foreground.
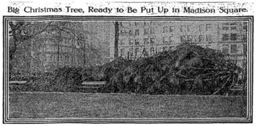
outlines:
M44 92L9 96L10 118L246 117L245 97L239 96Z

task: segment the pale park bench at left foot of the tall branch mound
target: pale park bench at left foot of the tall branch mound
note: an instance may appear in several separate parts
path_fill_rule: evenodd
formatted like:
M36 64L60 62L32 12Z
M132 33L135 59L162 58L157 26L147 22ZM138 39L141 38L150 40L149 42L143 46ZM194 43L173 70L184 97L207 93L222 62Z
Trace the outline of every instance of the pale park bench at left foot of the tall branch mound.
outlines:
M106 81L84 81L81 86L77 86L77 88L81 89L79 91L84 92L98 92L105 84Z

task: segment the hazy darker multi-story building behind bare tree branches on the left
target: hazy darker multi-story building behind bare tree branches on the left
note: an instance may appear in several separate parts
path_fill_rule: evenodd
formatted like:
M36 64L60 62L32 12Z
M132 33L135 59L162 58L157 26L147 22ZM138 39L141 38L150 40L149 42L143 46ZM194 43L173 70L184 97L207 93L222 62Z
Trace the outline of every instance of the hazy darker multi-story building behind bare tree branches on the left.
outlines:
M109 62L108 27L111 22L53 22L40 35L20 42L13 72L47 72L68 67L89 67ZM45 23L47 25L47 23ZM10 45L12 45L10 37Z

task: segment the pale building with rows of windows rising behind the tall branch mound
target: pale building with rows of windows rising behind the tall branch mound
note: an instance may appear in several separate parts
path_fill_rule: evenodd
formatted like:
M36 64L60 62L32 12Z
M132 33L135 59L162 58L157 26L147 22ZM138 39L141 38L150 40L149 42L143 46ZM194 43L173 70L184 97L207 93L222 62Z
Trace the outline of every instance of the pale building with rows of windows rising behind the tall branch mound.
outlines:
M247 26L247 22L122 22L118 54L137 59L191 42L227 52L239 66L243 66Z

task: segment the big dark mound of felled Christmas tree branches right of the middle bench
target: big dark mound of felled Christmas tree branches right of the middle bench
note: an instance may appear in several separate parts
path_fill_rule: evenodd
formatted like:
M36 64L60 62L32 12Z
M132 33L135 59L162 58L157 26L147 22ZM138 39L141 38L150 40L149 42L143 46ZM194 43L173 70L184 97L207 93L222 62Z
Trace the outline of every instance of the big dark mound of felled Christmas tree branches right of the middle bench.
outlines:
M149 58L117 58L84 81L107 81L103 92L111 93L212 95L227 93L238 74L227 54L187 43Z

